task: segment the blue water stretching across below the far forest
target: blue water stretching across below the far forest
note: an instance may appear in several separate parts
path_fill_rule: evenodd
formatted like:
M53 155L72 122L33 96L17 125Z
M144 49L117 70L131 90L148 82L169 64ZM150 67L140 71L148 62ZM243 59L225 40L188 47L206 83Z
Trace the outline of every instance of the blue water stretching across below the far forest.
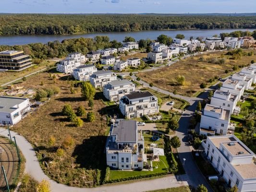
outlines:
M12 35L12 36L0 36L0 45L24 45L29 43L47 43L49 41L62 41L69 38L94 38L95 36L109 36L110 40L116 39L122 42L125 36L132 36L136 41L140 39L156 39L159 35L165 34L174 38L177 34L183 34L186 39L190 36L194 38L209 37L213 35L219 35L220 33L231 33L232 31L245 31L245 29L209 29L209 30L156 30L156 31L130 31L130 32L99 32L77 35ZM249 29L254 31L255 29Z

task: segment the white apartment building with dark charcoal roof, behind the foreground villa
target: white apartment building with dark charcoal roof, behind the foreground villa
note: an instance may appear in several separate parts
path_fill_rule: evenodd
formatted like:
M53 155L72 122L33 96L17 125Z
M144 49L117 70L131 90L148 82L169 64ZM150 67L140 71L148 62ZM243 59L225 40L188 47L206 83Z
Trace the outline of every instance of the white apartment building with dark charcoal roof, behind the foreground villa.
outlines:
M133 92L120 99L119 108L127 119L151 115L159 112L158 97L149 92Z

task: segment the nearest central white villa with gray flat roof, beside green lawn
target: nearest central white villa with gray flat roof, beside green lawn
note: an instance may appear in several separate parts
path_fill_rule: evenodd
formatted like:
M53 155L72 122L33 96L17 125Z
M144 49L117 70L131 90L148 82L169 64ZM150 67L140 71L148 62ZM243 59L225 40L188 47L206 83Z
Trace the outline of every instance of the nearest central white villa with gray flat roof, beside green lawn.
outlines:
M118 169L143 169L144 137L135 120L119 120L111 125L106 144L107 165Z

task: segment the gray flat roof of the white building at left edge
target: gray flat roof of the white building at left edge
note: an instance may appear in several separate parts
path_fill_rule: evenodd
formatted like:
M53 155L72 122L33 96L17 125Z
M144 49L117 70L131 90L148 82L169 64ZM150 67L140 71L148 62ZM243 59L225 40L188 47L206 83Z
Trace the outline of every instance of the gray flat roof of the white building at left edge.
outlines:
M14 106L20 105L25 100L27 98L0 96L0 112L12 113L17 110Z

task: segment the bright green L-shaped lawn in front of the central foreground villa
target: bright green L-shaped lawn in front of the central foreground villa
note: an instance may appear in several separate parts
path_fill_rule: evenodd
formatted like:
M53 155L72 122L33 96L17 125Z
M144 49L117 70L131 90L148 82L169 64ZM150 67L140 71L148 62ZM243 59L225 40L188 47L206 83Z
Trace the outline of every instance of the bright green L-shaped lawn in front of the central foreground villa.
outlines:
M155 168L158 166L158 168ZM129 178L134 176L145 176L152 173L166 173L167 168L169 168L168 162L165 156L160 156L159 162L153 162L153 171L122 171L122 170L110 170L109 180L117 180L121 178Z

